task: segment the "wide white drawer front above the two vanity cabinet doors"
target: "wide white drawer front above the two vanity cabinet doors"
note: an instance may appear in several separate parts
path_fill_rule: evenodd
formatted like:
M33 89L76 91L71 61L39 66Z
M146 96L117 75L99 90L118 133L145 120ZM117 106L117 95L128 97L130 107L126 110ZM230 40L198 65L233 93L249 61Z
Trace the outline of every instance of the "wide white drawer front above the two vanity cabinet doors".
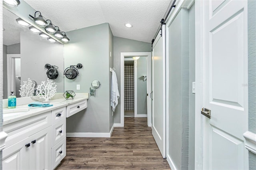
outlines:
M52 125L51 111L3 126L6 148Z

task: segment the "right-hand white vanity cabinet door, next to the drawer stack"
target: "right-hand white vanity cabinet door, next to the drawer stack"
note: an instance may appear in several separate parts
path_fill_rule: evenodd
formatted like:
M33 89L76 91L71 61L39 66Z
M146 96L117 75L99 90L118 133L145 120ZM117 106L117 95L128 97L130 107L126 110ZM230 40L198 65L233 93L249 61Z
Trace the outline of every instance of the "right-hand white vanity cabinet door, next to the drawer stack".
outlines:
M30 170L51 169L51 136L51 127L48 127L29 137Z

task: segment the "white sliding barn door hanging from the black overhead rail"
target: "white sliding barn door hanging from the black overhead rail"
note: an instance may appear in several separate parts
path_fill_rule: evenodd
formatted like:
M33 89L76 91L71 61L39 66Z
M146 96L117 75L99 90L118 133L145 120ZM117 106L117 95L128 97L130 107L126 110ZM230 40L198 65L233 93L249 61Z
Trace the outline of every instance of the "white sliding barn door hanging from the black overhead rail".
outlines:
M162 36L161 36L162 33ZM152 135L166 158L165 113L165 27L158 33L152 51Z

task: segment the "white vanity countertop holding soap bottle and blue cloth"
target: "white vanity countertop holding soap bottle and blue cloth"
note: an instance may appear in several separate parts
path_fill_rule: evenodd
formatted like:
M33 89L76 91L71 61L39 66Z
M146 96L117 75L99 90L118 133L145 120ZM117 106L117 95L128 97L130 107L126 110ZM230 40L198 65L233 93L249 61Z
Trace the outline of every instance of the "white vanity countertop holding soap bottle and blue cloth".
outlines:
M61 107L65 107L65 106L71 105L73 103L84 101L86 99L88 99L88 95L87 96L85 95L85 96L75 97L74 99L65 99L65 98L53 99L49 102L51 105L53 105L53 106L50 106L50 107L28 107L28 104L19 105L19 106L16 106L16 109L12 109L12 110L15 111L15 110L19 110L19 109L29 109L29 111L27 111L27 112L4 113L3 114L3 125L13 123L13 122L16 122L16 121L20 121L22 119L26 119L28 117L39 115L41 113L46 113L48 111L59 109ZM5 110L10 110L10 109L4 108L3 112Z

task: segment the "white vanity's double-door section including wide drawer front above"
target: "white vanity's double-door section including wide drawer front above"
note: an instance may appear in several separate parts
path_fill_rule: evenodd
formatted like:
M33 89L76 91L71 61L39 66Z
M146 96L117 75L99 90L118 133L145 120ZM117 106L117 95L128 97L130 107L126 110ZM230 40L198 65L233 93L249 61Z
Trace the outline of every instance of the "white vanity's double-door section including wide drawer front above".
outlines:
M3 126L8 134L2 151L4 170L51 169L51 112Z

